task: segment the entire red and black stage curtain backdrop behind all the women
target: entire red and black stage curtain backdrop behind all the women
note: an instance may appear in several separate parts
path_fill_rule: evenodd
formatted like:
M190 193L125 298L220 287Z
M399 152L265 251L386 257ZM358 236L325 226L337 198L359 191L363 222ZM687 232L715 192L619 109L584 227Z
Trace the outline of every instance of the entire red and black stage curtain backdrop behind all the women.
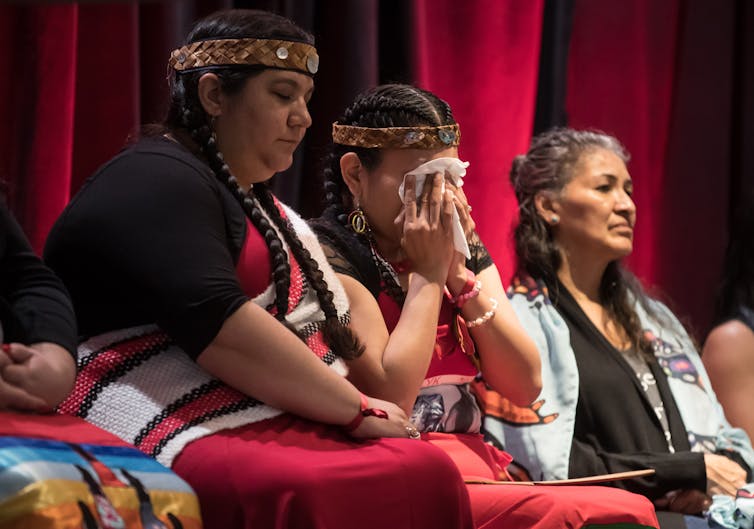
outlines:
M507 280L517 210L508 172L532 130L544 0L412 0L406 4L410 23L403 4L393 12L381 1L387 3L243 2L277 9L305 26L308 17L323 52L312 108L318 124L297 174L276 190L290 191L286 200L305 214L318 212L329 124L356 91L394 80L398 69L385 64L387 51L397 51L385 42L410 43L402 46L413 79L446 99L461 123L461 156L472 164L466 191ZM83 180L140 123L161 117L165 58L191 22L232 3L0 6L0 68L6 73L0 180L38 251ZM747 89L754 69L746 62L753 19L747 2L574 5L569 124L615 134L631 151L639 221L629 265L691 316L700 338L711 321L729 202L747 182L752 187L750 173L733 175L733 187L730 182L731 173L751 167L751 120L740 116L754 101Z

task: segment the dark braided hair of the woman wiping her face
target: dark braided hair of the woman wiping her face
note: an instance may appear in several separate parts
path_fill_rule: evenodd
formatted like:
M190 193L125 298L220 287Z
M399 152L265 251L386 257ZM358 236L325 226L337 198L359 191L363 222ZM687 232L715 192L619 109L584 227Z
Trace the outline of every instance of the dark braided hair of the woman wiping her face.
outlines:
M452 125L456 121L450 105L435 94L411 85L385 84L358 95L338 123L382 128ZM374 169L382 161L382 151L378 148L333 145L325 161L325 202L329 211L344 225L354 206L351 193L340 172L340 159L348 152L356 153L367 170ZM366 237L360 239L364 244L369 243ZM386 263L378 260L377 266L388 293L402 301L403 291L392 280Z

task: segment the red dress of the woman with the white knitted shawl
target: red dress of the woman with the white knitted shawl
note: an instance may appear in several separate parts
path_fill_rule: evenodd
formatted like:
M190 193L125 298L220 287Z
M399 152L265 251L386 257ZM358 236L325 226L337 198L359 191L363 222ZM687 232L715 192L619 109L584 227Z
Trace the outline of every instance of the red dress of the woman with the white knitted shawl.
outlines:
M237 272L254 297L269 283L269 259L247 228ZM290 414L193 441L172 468L197 492L208 529L472 526L466 488L442 450L357 441Z

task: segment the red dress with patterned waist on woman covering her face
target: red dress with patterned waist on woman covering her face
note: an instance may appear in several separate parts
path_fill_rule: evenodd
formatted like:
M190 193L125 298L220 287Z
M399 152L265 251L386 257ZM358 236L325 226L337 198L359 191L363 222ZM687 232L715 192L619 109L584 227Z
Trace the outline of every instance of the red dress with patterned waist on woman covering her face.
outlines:
M377 301L392 332L401 309L384 292ZM468 330L444 300L434 354L412 421L423 430L423 439L453 459L467 481L508 480L505 468L512 457L484 442L478 433L481 411L472 397L468 397L472 402L463 397L477 373L473 353ZM448 397L449 390L461 397ZM434 411L428 411L432 405ZM452 431L458 425L466 427L464 433ZM469 483L467 489L477 528L658 527L654 506L647 498L611 487Z

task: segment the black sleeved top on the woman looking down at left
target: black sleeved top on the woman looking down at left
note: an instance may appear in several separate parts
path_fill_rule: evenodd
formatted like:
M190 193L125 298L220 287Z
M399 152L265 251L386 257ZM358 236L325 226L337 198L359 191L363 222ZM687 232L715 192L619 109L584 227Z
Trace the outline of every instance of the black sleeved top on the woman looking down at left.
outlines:
M196 358L248 301L236 262L238 201L185 147L143 138L87 180L45 262L71 294L81 338L157 324Z

